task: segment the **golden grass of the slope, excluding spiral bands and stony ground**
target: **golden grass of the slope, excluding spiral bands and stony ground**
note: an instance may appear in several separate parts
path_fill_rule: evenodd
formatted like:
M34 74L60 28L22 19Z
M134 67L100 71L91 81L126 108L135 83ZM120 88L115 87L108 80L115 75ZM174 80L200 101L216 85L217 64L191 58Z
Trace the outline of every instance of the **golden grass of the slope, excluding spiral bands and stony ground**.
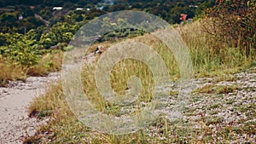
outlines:
M197 78L213 77L216 79L216 82L232 81L232 78L229 77L230 74L239 72L241 69L253 63L253 57L246 57L240 49L227 48L225 46L220 51L214 49L216 44L219 45L220 43L214 42L211 37L202 32L198 22L177 27L177 30L189 46L189 53L194 64L195 77ZM177 64L172 53L166 50L164 44L161 44L150 35L135 37L131 41L143 42L154 48L166 61L172 79L175 80L179 77ZM111 46L111 43L108 43L108 45ZM255 51L252 55L254 54ZM136 66L131 66L134 63ZM129 68L125 69L125 67ZM118 113L118 108L116 110L115 106L103 101L98 96L99 93L96 90L93 72L93 66L84 66L84 91L96 100L96 106L100 111L109 112L110 110L111 114ZM152 83L152 79L148 77L148 74L150 75L148 67L133 60L123 60L113 67L111 75L113 89L119 94L123 94L126 88L125 82L132 74L136 74L139 78L142 78L143 84L145 84L139 101L150 100L151 91L148 90L148 85ZM216 92L212 91L214 87L216 87ZM227 89L234 91L237 88L230 87ZM218 96L215 94L222 94L224 92L224 88L215 86L214 84L209 87L195 89L194 91L195 95L209 94L212 97ZM176 94L177 92L175 91L170 92L170 95ZM193 109L189 109L187 114L190 111L193 111ZM187 123L182 120L179 122L169 122L165 118L160 117L150 125L149 130L140 130L130 135L102 134L85 127L84 124L81 124L74 117L73 112L67 107L61 84L52 86L46 95L36 98L29 107L29 112L39 118L50 117L49 123L38 130L38 135L27 137L26 139L26 141L41 141L45 143L177 143L184 141L189 143L205 143L218 141L217 137L224 139L225 142L229 142L234 140L233 133L242 135L246 130L233 129L235 127L232 127L232 125L222 125L217 132L214 132L209 128L209 125L212 123L220 124L222 121L215 117L206 119L201 113L201 118L197 121L198 124L201 124L201 129L194 129L189 125L185 125ZM181 125L185 127L180 127ZM47 135L45 135L45 131L47 131Z

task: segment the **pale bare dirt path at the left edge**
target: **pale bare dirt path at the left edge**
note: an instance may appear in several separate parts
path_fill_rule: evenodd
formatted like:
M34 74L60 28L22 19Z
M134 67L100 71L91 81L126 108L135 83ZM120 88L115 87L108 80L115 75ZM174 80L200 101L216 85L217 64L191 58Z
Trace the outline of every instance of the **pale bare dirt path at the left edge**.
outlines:
M0 143L22 143L26 135L34 135L39 124L37 118L28 118L27 107L34 96L44 94L47 84L61 77L61 72L50 73L48 77L31 77L23 82L11 82L7 88L0 88Z

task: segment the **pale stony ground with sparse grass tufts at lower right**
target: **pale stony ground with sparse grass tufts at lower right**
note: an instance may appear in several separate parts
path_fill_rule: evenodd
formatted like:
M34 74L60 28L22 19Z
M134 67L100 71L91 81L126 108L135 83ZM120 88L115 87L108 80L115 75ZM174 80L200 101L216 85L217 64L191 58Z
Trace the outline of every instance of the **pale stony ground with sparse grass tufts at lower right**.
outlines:
M161 126L151 125L148 129L150 135L159 135L165 140L166 136L172 138L178 130L183 130L185 139L192 136L197 137L196 141L256 143L256 67L225 78L191 81L193 90L186 100L180 99L186 103L178 111L178 117L179 84L168 84L162 88L172 91L165 98L165 108L161 110L165 113L164 118L172 123L172 131L163 135L159 130L164 131L164 123Z

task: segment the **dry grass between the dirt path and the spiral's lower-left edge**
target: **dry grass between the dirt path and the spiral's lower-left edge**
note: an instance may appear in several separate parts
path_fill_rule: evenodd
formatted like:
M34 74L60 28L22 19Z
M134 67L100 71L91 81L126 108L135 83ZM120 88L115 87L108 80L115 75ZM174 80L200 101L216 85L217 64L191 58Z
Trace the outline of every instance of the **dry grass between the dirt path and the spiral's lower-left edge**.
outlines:
M151 143L142 130L128 135L111 135L90 130L79 122L67 106L61 83L50 85L45 95L34 98L28 112L31 118L50 119L40 127L36 135L26 136L25 143ZM154 141L159 143L157 139Z

